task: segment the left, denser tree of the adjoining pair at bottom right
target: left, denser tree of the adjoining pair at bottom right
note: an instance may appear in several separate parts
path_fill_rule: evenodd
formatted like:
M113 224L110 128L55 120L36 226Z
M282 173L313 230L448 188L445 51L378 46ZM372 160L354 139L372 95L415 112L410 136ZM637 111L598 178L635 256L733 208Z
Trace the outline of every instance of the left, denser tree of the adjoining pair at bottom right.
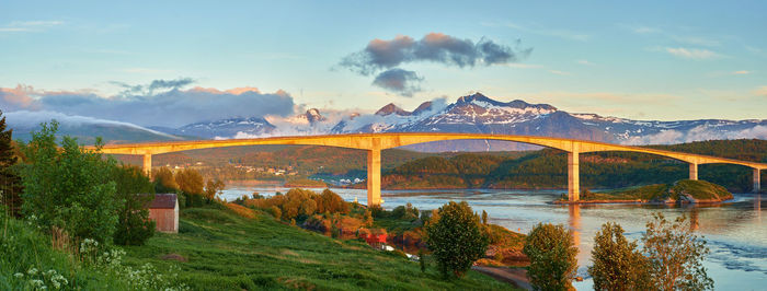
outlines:
M652 289L648 259L637 249L637 242L626 240L617 223L602 224L594 236L592 260L588 275L594 278L595 290Z

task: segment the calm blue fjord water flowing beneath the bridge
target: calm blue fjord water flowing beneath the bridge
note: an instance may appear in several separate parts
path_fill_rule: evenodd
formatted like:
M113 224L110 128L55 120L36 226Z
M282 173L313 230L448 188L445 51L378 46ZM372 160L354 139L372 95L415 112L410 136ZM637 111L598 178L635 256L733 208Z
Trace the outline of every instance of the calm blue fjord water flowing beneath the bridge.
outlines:
M233 200L257 191L273 195L287 191L278 185L230 183L224 198ZM320 189L317 189L318 191ZM347 201L366 203L366 190L333 189ZM735 194L732 203L709 207L665 207L639 205L558 206L547 203L559 198L561 190L385 190L384 207L392 209L411 202L421 210L436 209L449 200L467 201L474 211L485 210L490 221L510 230L527 233L539 222L562 223L576 234L579 245L579 290L591 290L586 273L591 265L593 238L607 221L619 223L630 240L639 240L652 213L663 212L674 219L686 214L702 234L711 254L705 261L717 290L764 290L767 286L767 225L763 223L762 202L767 196Z

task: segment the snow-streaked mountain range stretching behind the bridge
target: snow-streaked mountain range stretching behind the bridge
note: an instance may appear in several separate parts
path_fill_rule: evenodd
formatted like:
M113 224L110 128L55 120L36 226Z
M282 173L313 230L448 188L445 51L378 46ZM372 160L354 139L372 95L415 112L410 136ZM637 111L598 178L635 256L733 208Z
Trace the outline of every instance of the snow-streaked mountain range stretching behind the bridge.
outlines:
M9 118L11 126L13 126L12 121ZM160 133L160 137L157 137L159 140L167 140L355 132L502 133L561 137L623 144L668 144L695 140L740 138L767 139L767 119L632 120L596 114L569 113L549 104L530 104L520 100L500 102L481 93L461 96L450 104L436 101L424 102L412 112L394 104L388 104L375 114L331 112L329 116L323 116L319 109L311 108L304 114L290 117L232 117L194 123L179 128L133 127L130 129L133 131L145 130L148 135L141 136L141 140L136 141L151 139L151 136L157 133ZM118 131L121 130L114 129L108 132L112 133L113 139L117 140L131 141L130 136L136 139L136 132L124 138L114 137L115 135L119 136ZM454 151L456 149L500 151L531 149L534 147L502 141L443 141L408 148L419 151Z

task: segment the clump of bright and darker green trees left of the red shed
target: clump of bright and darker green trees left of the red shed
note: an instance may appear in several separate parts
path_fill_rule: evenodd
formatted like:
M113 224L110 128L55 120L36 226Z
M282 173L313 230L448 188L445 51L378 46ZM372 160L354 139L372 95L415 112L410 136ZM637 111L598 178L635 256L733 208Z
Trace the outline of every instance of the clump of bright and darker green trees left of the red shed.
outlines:
M23 213L45 230L62 230L75 238L142 244L154 230L146 222L149 181L136 168L104 159L100 139L94 151L66 136L58 144L57 129L55 120L43 124L28 143L19 144Z

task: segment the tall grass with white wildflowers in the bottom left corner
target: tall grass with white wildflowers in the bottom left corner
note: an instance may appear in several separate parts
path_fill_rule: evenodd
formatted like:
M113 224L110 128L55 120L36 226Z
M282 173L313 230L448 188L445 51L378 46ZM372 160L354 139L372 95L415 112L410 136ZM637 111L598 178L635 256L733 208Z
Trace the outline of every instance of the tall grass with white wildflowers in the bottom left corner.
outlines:
M92 240L77 244L59 229L47 235L33 220L4 211L0 221L0 290L184 289L151 265L123 265L122 249L98 247Z

